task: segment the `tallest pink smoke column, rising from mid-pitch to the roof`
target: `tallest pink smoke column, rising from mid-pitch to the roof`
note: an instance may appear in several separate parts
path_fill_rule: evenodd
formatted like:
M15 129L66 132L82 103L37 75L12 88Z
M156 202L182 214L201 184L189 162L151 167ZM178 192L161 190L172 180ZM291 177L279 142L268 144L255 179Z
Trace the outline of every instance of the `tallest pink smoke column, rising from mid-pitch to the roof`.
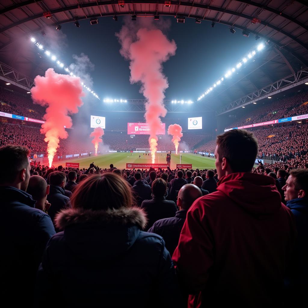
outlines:
M147 99L144 117L150 128L149 144L152 163L155 163L156 133L162 123L160 117L167 114L163 99L168 81L162 73L162 63L175 55L176 43L170 42L161 30L153 29L153 25L142 26L135 34L130 32L130 26L124 25L116 35L121 44L121 55L130 60L130 82L141 81L140 92Z

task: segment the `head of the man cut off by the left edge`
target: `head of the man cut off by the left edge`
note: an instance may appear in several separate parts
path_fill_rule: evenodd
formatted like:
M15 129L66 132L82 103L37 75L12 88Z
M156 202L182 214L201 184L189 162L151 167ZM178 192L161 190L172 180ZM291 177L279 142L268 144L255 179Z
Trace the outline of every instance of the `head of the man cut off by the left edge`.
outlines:
M29 149L22 146L0 147L0 185L26 191L30 179Z

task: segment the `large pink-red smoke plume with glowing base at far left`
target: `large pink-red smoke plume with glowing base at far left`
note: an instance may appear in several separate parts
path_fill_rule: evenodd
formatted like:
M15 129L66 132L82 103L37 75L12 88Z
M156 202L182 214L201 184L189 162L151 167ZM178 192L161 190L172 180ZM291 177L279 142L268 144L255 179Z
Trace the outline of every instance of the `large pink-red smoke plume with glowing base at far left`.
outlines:
M49 167L59 147L59 138L66 139L65 128L72 127L68 113L77 113L85 94L79 77L57 74L52 68L45 72L45 76L36 76L35 86L31 89L34 103L47 106L41 133L45 134Z

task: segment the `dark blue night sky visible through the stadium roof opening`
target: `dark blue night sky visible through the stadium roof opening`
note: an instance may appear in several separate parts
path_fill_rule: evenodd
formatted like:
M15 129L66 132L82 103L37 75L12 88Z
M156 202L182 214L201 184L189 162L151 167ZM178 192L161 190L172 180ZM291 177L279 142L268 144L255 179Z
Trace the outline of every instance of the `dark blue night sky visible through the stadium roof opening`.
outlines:
M119 53L115 32L123 25L124 17L118 18L118 22L111 17L99 18L99 23L92 26L89 20L80 21L79 28L73 23L63 24L61 31L66 37L59 52L66 63L73 62L73 54L89 56L95 65L90 72L93 88L101 98L143 99L140 85L129 82L129 62ZM166 99L197 100L257 43L252 34L246 38L238 29L231 34L228 26L220 24L211 28L211 22L196 24L193 18L186 18L184 24L176 23L173 17L160 19L170 23L167 37L177 45L176 55L164 63L169 82Z

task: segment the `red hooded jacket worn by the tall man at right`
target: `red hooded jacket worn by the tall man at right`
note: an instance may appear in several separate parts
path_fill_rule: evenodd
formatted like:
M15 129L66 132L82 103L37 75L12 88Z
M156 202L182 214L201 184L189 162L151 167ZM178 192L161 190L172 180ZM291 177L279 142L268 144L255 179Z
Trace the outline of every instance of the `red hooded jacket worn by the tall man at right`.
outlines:
M189 209L172 257L188 307L281 306L295 237L273 178L222 177Z

